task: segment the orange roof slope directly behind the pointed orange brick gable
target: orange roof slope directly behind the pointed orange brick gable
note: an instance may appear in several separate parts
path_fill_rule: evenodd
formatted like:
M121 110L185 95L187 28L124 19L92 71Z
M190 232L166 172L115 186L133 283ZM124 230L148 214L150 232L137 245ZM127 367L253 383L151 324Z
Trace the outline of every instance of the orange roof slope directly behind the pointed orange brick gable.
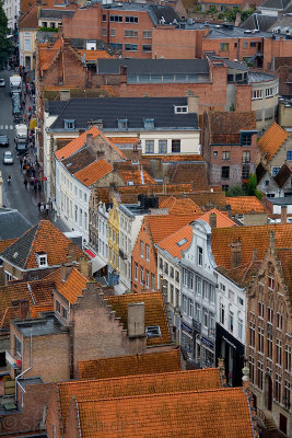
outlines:
M152 235L153 243L157 243L165 239L167 235L179 230L184 226L190 223L196 219L194 215L161 215L161 216L147 216L143 219L143 224L149 226L150 233ZM142 224L142 227L143 227Z

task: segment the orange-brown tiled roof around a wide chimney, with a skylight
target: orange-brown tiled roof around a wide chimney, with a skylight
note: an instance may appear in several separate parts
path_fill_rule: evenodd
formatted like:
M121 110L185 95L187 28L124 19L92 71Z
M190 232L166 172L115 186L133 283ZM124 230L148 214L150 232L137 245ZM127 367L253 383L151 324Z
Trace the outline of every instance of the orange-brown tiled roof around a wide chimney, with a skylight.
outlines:
M106 297L106 301L107 304L113 307L116 315L120 318L120 322L125 328L128 326L128 304L143 302L145 312L145 327L159 325L161 331L161 337L149 337L147 339L147 345L161 345L171 343L166 312L161 292L126 293Z

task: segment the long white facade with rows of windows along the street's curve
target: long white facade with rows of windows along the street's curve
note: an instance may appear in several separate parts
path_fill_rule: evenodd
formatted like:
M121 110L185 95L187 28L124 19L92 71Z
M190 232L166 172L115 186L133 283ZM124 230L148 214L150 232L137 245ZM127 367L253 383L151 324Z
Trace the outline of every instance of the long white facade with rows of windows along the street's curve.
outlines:
M56 211L69 230L89 242L89 201L91 187L78 181L56 160Z

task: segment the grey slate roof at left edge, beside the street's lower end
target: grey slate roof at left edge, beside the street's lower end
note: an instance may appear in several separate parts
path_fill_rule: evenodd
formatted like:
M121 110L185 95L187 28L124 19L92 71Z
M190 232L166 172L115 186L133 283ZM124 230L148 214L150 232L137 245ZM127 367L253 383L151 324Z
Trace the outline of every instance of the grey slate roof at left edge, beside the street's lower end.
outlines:
M0 208L0 240L16 239L32 227L17 210Z

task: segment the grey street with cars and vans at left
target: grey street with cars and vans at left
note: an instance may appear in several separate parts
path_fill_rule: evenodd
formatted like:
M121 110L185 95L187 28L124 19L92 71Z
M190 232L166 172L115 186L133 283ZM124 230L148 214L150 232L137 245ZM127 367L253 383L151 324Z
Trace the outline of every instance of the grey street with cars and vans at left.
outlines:
M12 116L12 103L9 93L9 77L13 71L1 71L0 78L5 80L5 88L0 88L0 134L7 135L9 138L9 148L0 149L0 170L3 177L3 205L5 207L17 209L33 224L39 221L38 214L38 194L35 196L33 192L25 189L23 184L23 174L20 169L20 161L15 151L14 143L14 123ZM3 153L10 150L14 158L13 165L3 164ZM11 175L11 184L8 184L7 177Z

